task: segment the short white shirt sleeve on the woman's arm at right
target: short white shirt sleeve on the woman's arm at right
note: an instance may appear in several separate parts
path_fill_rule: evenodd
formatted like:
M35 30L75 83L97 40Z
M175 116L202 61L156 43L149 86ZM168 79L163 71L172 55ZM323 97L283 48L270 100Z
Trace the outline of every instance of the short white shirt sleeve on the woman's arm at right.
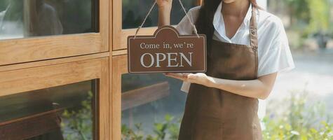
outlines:
M268 49L259 62L258 76L294 69L294 61L283 22L278 20L276 26L273 38L269 41L270 43L267 43L269 46L261 46Z

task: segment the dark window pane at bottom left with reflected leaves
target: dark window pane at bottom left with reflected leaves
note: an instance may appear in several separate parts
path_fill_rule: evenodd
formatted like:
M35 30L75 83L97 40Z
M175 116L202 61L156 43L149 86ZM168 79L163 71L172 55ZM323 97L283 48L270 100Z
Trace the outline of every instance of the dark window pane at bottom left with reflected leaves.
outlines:
M96 81L0 97L0 139L94 139Z

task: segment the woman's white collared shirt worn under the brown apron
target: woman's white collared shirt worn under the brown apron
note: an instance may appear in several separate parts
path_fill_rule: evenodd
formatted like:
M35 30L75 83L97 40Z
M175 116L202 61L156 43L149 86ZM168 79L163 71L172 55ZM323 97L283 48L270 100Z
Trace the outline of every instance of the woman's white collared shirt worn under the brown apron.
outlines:
M191 22L195 22L198 18L200 6L191 8L188 15ZM224 18L221 13L222 2L219 4L213 20L215 32L213 39L226 43L236 43L250 45L250 18L252 16L252 7L250 6L245 15L245 19L240 25L236 34L229 38L226 36L224 27ZM257 32L258 32L258 77L265 76L270 73L287 71L294 68L294 61L290 52L287 34L280 18L268 13L264 10L257 11ZM176 29L179 34L192 34L188 18L184 17ZM189 92L190 83L183 83L182 91Z

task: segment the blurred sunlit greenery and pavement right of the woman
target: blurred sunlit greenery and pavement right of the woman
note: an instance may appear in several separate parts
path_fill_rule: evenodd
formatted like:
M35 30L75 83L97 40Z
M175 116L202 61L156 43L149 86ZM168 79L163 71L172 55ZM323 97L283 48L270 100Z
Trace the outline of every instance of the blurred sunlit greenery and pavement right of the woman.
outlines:
M266 102L266 139L333 139L333 1L267 1L283 20L296 69Z

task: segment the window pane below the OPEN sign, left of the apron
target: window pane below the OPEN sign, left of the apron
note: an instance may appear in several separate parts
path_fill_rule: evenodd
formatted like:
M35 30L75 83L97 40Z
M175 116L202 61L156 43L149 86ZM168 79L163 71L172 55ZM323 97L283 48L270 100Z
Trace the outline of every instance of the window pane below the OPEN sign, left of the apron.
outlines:
M122 135L131 139L141 135L147 139L165 132L165 139L177 139L179 120L184 111L186 94L182 83L163 74L123 74ZM161 126L165 130L159 130Z

